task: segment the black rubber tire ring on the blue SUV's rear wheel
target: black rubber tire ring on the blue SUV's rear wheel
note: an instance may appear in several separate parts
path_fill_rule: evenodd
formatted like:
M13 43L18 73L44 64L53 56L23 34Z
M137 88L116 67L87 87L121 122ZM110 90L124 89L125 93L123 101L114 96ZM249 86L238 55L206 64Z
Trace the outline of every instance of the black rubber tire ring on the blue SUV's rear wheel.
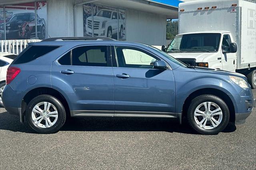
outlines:
M32 110L34 106L40 102L52 103L58 111L57 121L52 127L48 127L48 128L39 127L32 120ZM62 103L60 103L60 101L55 97L52 97L50 95L39 95L34 99L32 99L30 103L28 103L28 106L26 109L26 120L28 121L28 124L30 125L30 127L36 130L36 132L38 133L43 133L43 134L55 133L55 132L58 132L60 128L64 125L66 121L66 111Z

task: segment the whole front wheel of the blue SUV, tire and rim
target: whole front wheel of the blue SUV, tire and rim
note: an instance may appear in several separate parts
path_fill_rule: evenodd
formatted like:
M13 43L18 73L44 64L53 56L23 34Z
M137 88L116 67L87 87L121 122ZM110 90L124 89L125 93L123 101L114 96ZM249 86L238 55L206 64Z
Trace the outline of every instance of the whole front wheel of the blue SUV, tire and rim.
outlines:
M201 134L218 134L229 122L226 103L214 95L200 95L188 108L189 125Z

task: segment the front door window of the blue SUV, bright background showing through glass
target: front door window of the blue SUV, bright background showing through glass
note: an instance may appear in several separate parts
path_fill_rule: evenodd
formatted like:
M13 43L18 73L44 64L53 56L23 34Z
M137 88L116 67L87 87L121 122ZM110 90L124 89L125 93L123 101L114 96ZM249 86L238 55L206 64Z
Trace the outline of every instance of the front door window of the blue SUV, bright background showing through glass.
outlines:
M118 67L152 69L157 60L151 55L132 47L115 47Z

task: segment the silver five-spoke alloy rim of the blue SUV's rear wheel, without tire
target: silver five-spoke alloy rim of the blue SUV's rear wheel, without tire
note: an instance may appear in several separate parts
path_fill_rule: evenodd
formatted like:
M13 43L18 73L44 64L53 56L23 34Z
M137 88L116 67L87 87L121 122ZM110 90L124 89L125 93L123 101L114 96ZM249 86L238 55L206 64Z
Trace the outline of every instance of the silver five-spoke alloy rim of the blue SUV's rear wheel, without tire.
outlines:
M57 122L58 111L52 103L40 102L34 106L31 116L36 126L49 128Z

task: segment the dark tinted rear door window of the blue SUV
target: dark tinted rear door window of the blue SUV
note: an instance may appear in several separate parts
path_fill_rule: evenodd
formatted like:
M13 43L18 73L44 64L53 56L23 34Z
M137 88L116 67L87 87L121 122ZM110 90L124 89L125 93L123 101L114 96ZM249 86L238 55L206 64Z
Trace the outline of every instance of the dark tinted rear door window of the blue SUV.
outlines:
M107 46L84 46L72 49L72 65L108 67Z

